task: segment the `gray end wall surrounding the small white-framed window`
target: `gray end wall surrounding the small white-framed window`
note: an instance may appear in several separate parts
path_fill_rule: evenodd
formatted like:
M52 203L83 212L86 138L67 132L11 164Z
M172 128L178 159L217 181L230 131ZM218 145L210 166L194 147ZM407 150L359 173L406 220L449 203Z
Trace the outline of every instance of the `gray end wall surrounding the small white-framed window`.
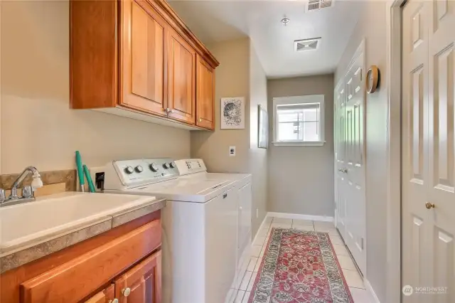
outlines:
M333 75L268 80L269 135L273 139L273 98L324 95L322 147L269 146L268 211L333 216Z

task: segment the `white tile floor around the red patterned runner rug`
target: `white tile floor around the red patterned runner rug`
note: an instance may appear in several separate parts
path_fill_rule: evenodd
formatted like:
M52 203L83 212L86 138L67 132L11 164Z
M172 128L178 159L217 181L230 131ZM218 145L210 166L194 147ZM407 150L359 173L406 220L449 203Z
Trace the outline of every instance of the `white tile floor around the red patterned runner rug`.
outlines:
M247 267L245 275L242 277L238 289L231 289L232 303L247 303L250 298L252 287L255 283L257 272L264 256L264 250L269 240L271 228L296 228L299 230L316 230L328 233L333 244L333 248L340 262L341 270L346 279L346 283L353 296L354 303L373 303L368 292L363 285L363 279L355 268L354 262L351 259L348 250L343 244L336 228L331 222L311 221L311 220L293 220L287 218L271 218L267 217L262 229L258 231L254 243L252 243L252 255Z

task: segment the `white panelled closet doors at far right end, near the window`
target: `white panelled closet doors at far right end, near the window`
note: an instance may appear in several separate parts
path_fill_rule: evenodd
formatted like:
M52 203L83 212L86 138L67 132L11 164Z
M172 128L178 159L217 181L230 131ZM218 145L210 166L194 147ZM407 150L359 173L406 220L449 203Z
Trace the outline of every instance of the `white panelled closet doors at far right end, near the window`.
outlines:
M337 228L360 270L366 270L365 85L363 44L335 93Z

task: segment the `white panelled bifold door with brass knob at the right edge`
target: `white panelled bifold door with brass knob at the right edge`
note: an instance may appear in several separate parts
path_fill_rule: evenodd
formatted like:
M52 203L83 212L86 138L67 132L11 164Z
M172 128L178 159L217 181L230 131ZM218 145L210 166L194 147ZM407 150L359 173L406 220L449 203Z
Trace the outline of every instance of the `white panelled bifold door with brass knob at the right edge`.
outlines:
M455 302L455 1L402 17L402 285L436 287L403 301Z

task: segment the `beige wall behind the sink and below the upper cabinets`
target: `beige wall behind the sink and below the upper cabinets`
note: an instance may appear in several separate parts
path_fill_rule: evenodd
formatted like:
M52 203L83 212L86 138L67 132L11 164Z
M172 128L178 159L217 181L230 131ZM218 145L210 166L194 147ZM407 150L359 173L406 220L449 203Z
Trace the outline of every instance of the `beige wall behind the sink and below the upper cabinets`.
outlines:
M69 109L68 1L2 1L1 173L190 156L190 133Z

